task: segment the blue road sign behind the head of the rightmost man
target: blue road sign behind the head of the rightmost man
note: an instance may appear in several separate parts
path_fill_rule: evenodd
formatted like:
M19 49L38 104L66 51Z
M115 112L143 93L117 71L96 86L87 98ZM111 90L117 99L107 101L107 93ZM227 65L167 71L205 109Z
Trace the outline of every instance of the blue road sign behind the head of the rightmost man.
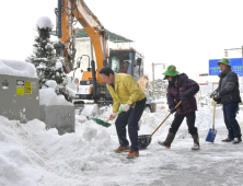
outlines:
M239 77L242 77L242 58L229 58L231 70L234 71ZM219 62L221 59L209 59L209 75L218 75L221 73Z

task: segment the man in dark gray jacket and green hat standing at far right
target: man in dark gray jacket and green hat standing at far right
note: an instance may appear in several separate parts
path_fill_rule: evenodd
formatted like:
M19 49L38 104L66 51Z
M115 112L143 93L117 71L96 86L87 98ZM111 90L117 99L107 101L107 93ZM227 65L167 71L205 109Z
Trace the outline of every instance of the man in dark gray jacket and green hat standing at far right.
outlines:
M219 74L219 86L211 96L218 104L222 104L224 123L228 129L228 138L222 142L238 144L242 141L241 128L235 119L241 103L238 74L231 70L230 60L223 58L217 62L221 73Z

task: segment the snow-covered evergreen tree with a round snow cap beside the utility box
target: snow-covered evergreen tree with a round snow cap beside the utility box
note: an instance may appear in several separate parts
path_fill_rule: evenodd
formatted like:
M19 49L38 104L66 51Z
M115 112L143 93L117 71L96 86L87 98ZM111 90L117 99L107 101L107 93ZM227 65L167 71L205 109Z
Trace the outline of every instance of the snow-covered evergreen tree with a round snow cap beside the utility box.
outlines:
M56 93L62 94L67 101L71 102L73 93L66 88L68 83L67 74L63 71L62 57L56 56L54 45L50 42L53 24L49 18L42 16L37 21L38 36L35 38L33 55L26 61L35 66L39 78L39 89L48 88L48 80L57 82Z

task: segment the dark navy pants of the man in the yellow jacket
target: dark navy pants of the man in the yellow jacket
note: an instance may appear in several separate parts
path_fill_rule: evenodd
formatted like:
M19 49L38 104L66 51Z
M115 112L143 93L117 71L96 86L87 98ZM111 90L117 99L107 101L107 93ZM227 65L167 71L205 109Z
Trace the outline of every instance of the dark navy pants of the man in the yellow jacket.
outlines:
M125 148L129 146L126 137L126 126L128 125L128 133L131 142L130 149L138 151L138 121L146 107L146 101L147 98L136 102L135 108L131 107L128 112L118 115L115 124L120 147Z

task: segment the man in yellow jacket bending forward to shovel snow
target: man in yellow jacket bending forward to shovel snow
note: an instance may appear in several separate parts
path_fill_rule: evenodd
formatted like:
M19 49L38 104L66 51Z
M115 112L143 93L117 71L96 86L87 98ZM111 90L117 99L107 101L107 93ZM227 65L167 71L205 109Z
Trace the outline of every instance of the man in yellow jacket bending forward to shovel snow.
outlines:
M120 153L129 151L127 158L134 159L139 155L138 121L146 106L146 94L131 75L114 73L109 67L103 67L100 70L100 75L106 83L107 90L113 97L113 114L109 118L114 118L114 115L121 111L115 121L119 140L119 148L117 148L115 152ZM130 147L126 138L127 125L131 142Z

